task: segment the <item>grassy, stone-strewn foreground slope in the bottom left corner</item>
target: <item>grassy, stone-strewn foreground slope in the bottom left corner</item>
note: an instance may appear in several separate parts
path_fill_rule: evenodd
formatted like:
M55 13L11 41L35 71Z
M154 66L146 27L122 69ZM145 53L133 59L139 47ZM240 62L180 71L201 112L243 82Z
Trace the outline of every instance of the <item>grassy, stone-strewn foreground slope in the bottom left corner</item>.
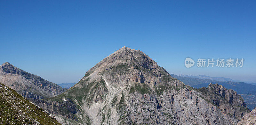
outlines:
M60 125L29 100L0 83L1 125Z

